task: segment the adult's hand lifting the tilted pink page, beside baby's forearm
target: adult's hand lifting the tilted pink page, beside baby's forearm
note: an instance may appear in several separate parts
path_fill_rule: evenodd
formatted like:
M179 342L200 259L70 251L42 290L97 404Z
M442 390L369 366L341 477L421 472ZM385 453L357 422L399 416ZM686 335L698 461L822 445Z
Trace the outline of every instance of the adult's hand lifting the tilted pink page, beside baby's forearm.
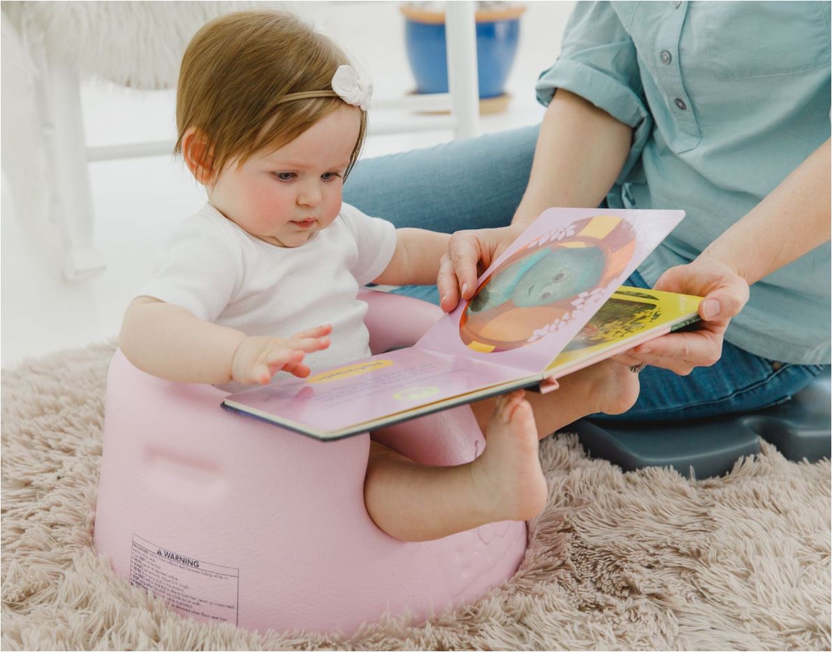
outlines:
M439 263L436 285L439 306L450 312L460 297L468 300L477 289L477 279L484 270L519 236L524 226L501 226L495 229L457 231L448 242L448 253Z

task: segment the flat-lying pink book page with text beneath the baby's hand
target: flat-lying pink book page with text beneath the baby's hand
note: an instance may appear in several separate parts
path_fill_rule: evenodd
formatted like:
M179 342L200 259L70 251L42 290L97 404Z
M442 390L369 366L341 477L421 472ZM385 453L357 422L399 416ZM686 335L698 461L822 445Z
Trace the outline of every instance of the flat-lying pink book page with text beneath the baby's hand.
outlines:
M522 370L488 361L410 347L227 396L225 403L316 431L337 431L523 376Z

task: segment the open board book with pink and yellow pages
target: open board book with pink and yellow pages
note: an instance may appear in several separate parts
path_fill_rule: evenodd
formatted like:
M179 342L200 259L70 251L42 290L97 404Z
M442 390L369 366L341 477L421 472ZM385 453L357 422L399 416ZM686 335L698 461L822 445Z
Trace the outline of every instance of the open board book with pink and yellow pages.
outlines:
M550 208L483 272L472 298L414 346L281 379L227 396L222 406L337 440L514 389L539 389L545 379L699 319L701 297L621 286L682 217Z

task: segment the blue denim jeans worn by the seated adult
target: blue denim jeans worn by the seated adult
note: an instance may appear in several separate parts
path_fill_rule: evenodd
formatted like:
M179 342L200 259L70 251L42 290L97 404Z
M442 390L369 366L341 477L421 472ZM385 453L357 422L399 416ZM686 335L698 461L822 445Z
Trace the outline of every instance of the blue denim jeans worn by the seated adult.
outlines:
M506 226L526 189L537 131L523 127L361 161L344 185L344 201L396 226L445 233ZM637 272L628 284L647 287ZM399 292L438 304L435 286ZM767 360L725 342L716 365L689 376L647 367L636 405L597 418L676 421L759 410L788 401L828 370Z

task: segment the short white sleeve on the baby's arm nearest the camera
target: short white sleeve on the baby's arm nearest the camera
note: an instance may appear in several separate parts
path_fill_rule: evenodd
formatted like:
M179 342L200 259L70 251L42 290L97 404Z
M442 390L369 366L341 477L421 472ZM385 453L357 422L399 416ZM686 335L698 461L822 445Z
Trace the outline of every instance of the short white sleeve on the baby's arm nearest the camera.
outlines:
M187 219L171 234L139 295L215 321L240 284L242 261L235 242L233 234L199 214Z

